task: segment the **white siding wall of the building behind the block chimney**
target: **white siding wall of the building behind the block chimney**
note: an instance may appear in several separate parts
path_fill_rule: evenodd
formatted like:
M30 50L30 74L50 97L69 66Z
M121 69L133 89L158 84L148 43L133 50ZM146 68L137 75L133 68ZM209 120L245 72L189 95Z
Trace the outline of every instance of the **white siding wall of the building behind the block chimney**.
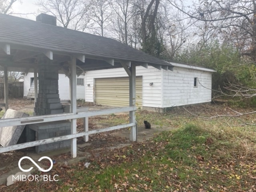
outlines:
M30 89L30 78L34 77L34 73L28 73L24 77L24 97L27 97L28 91ZM84 78L84 75L80 75L78 78ZM65 76L65 74L59 74L58 80L58 87L59 87L59 95L60 100L69 100L69 78ZM85 95L85 86L76 86L76 97L77 99L84 99Z

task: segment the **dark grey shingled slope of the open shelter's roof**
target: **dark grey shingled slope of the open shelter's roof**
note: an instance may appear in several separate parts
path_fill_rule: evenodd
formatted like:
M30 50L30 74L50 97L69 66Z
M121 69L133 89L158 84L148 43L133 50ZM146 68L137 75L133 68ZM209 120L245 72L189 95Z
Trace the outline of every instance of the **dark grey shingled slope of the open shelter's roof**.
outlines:
M111 38L5 14L0 14L0 42L172 66Z

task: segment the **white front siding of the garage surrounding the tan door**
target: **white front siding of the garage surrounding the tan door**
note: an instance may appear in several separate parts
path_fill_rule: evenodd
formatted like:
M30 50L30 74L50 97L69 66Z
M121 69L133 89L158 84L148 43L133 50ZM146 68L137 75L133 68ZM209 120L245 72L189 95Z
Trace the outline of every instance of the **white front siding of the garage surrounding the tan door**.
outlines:
M126 77L124 68L87 71L85 76L85 100L94 102L94 80L96 78ZM149 107L161 106L161 71L148 66L136 66L136 76L142 76L142 104ZM153 86L149 84L153 82ZM88 86L90 85L90 86Z

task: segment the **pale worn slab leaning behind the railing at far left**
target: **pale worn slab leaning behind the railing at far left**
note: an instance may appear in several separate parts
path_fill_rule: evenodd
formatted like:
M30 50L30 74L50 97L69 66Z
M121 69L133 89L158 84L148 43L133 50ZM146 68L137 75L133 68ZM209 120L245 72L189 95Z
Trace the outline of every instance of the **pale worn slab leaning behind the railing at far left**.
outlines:
M28 117L24 112L8 109L2 119ZM17 144L25 125L0 127L0 144L4 147Z

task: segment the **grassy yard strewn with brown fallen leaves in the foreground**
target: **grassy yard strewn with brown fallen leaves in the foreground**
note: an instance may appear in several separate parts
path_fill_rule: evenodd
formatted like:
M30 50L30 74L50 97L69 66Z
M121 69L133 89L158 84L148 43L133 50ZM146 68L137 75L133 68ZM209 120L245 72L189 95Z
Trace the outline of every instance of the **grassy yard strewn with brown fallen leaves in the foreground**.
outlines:
M227 106L187 108L198 116L235 114ZM250 109L246 109L247 111ZM223 117L204 120L182 108L159 114L140 111L138 124L175 128L154 138L116 149L104 146L86 161L73 165L57 164L48 173L58 181L17 182L0 186L0 191L172 191L172 192L254 192L256 191L255 126L232 126L255 122L254 114L242 119ZM126 115L91 120L111 125L126 121ZM79 124L78 124L79 126ZM91 139L102 139L97 135ZM107 138L106 138L107 139ZM114 142L114 138L108 138ZM88 168L85 163L90 162ZM38 173L39 174L39 173Z

